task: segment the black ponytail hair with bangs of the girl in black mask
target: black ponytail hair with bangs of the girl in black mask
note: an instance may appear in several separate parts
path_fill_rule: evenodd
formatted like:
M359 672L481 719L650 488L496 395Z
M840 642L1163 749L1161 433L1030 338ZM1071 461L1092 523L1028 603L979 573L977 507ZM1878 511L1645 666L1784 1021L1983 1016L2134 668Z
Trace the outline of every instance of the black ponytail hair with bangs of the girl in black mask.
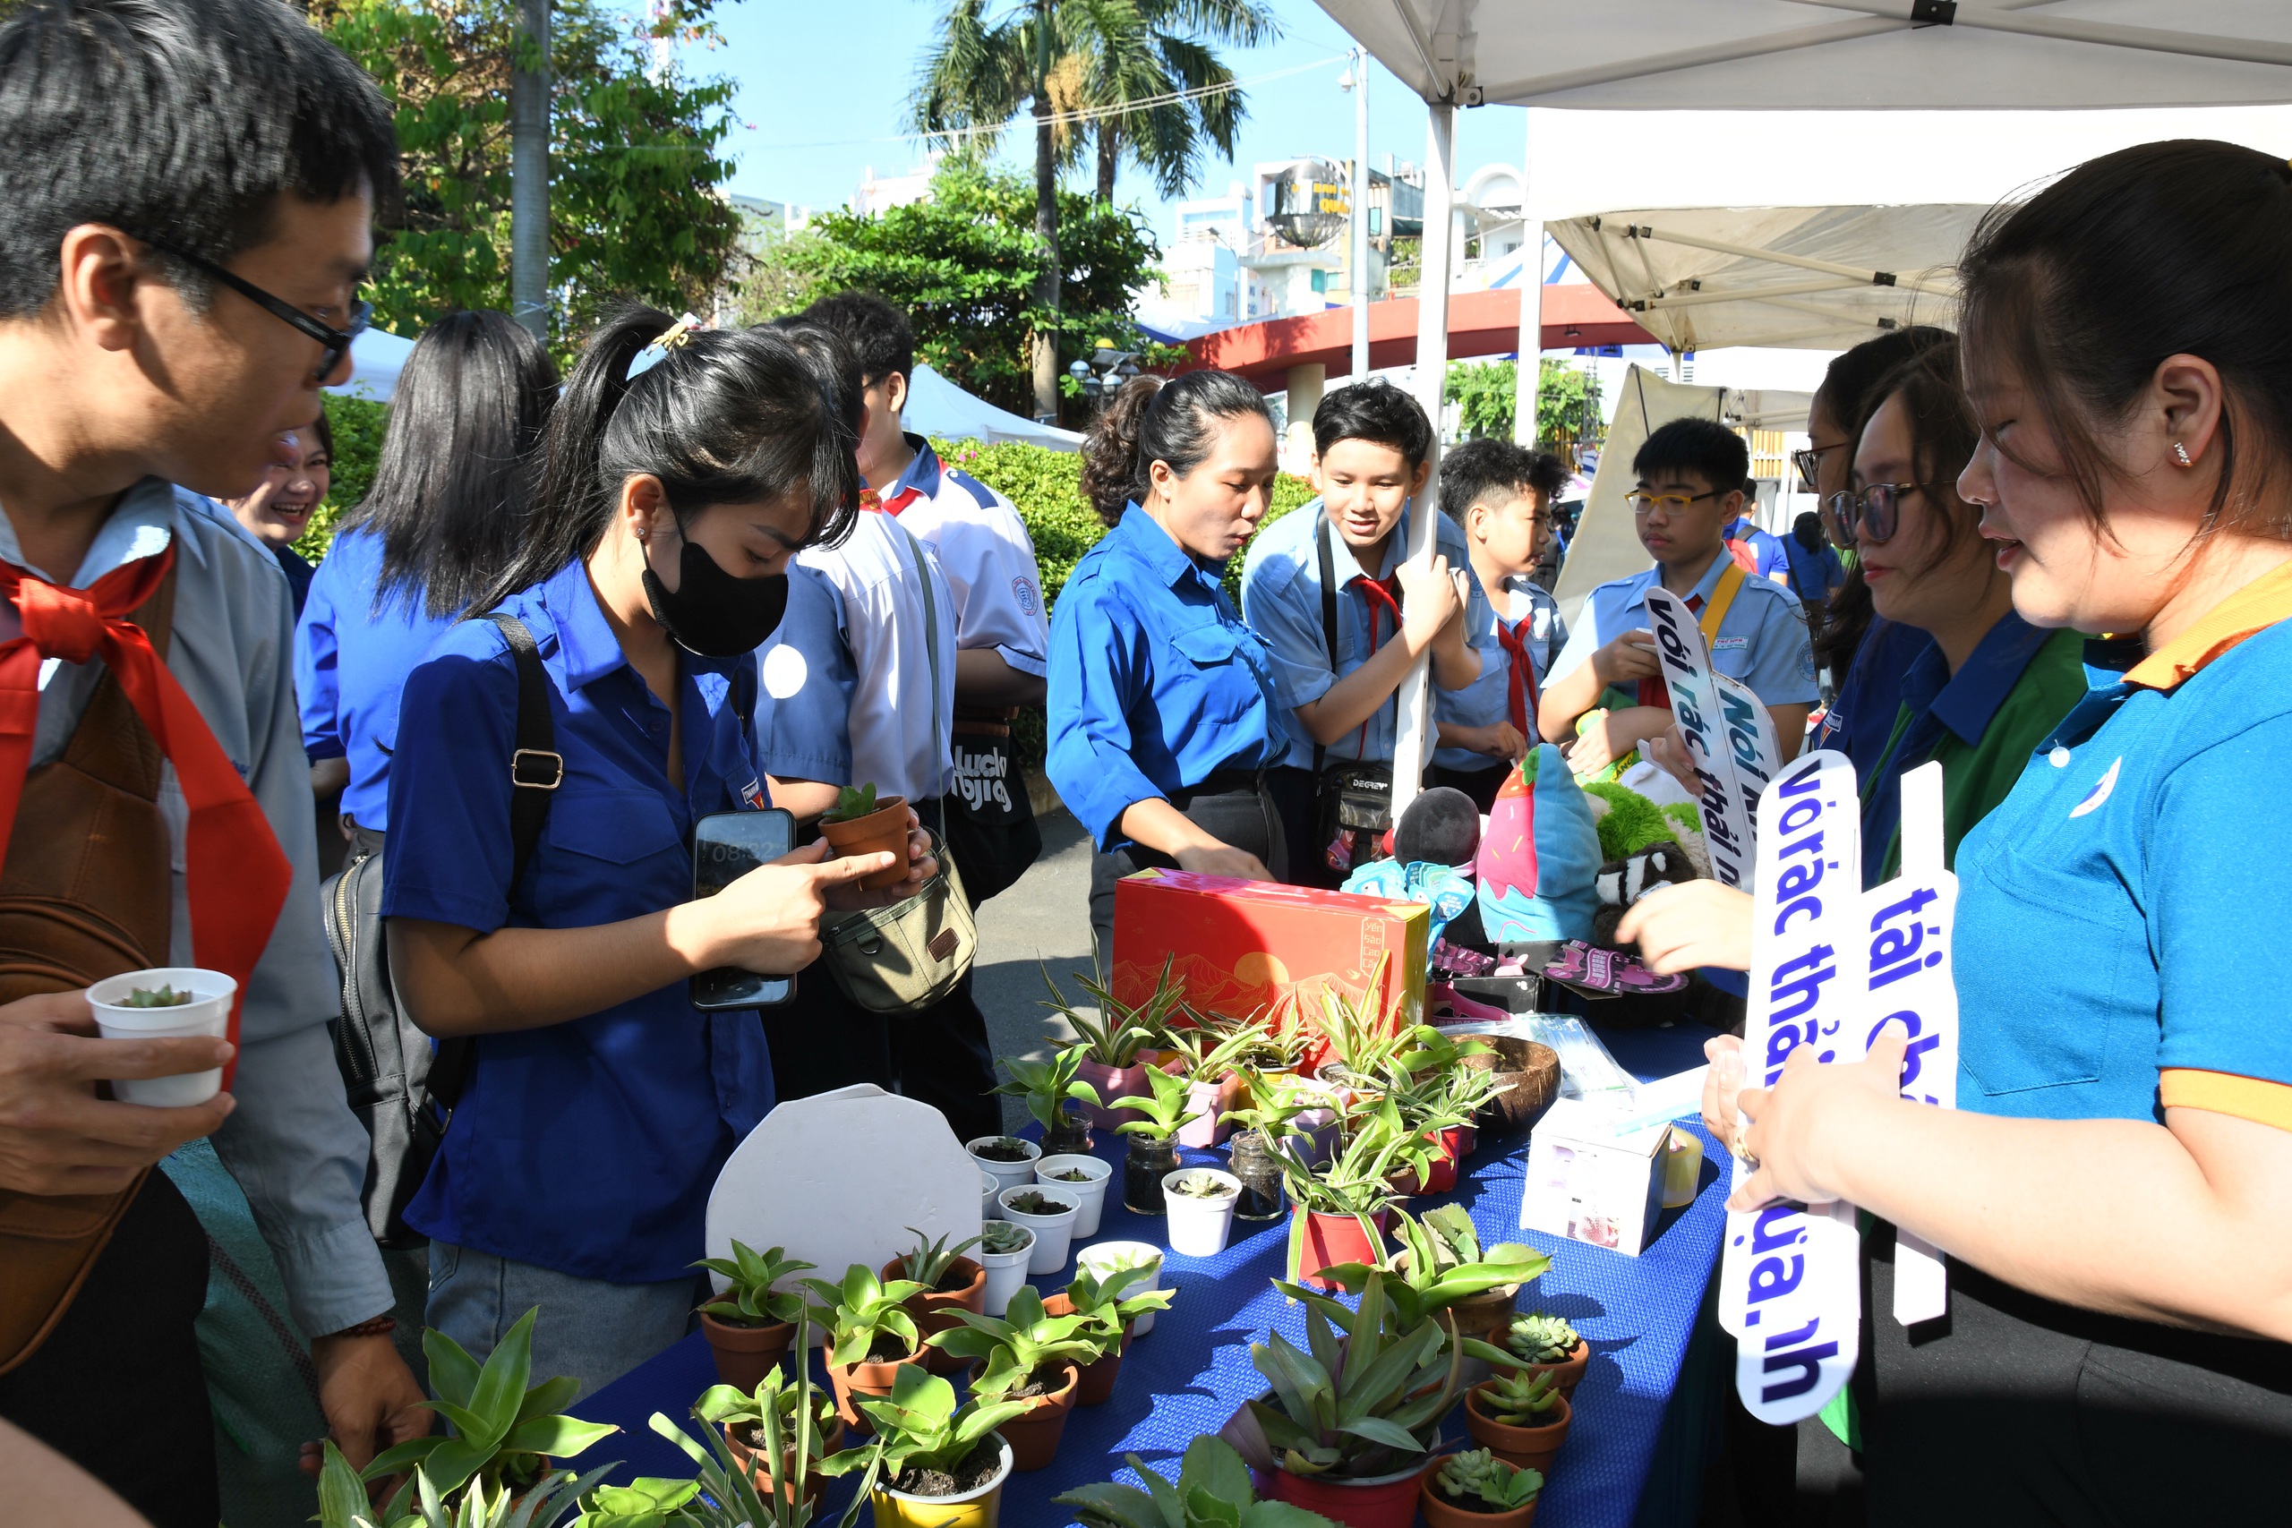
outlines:
M628 305L591 334L550 415L523 545L472 609L584 559L612 527L621 483L639 472L660 479L678 527L711 504L800 493L811 502L804 545L850 531L859 433L827 385L827 362L772 328L694 330L630 378L630 362L672 323Z

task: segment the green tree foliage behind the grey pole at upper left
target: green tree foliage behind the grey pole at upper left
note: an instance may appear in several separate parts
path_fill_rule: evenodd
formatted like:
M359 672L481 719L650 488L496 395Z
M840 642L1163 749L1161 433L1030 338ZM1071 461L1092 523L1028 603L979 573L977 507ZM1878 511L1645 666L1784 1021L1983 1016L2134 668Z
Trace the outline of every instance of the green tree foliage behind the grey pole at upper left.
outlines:
M406 197L383 208L376 323L413 334L461 307L507 312L516 0L316 0L312 18L397 108ZM658 25L708 37L706 7ZM557 344L621 293L708 312L740 231L715 195L733 82L656 69L649 27L607 0L555 0L550 27Z

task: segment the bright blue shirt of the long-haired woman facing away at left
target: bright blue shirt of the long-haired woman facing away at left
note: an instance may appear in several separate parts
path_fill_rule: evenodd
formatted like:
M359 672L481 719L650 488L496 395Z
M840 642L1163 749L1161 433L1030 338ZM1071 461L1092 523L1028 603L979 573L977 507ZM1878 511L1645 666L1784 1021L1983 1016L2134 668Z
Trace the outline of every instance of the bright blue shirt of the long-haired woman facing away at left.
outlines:
M399 692L431 644L454 625L431 616L422 596L401 591L374 612L383 538L335 536L309 582L293 628L293 687L303 706L303 747L312 758L348 758L342 811L360 827L390 827L390 751L399 745Z

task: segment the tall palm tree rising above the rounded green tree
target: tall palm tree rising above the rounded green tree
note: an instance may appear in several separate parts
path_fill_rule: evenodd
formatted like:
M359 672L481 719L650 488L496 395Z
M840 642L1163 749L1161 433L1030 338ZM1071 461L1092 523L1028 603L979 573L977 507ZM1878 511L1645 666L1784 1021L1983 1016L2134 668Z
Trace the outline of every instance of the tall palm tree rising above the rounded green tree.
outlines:
M1059 167L1098 126L1098 197L1130 153L1167 195L1194 176L1203 135L1226 156L1242 119L1233 71L1196 39L1256 46L1279 37L1258 0L949 0L917 76L915 126L986 153L1022 103L1034 117L1034 234L1043 245L1036 302L1059 312ZM1203 94L1183 94L1203 89ZM1135 105L1132 105L1135 103ZM1034 410L1059 412L1059 337L1034 337Z

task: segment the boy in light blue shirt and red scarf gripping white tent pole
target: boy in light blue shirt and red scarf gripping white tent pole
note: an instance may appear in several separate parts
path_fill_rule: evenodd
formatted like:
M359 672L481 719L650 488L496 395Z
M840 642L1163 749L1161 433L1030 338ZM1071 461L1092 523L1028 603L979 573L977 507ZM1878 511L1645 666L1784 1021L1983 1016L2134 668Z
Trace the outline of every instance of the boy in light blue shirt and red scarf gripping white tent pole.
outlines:
M1430 454L1432 424L1398 387L1355 383L1322 396L1320 497L1249 545L1242 614L1265 637L1281 685L1290 749L1274 788L1300 838L1290 852L1300 884L1334 887L1373 854L1382 825L1341 827L1336 804L1348 790L1359 800L1364 781L1391 800L1396 696L1416 657L1432 657L1435 719L1465 722L1451 696L1481 678L1481 653L1497 644L1455 520L1435 518L1430 564L1407 561Z

